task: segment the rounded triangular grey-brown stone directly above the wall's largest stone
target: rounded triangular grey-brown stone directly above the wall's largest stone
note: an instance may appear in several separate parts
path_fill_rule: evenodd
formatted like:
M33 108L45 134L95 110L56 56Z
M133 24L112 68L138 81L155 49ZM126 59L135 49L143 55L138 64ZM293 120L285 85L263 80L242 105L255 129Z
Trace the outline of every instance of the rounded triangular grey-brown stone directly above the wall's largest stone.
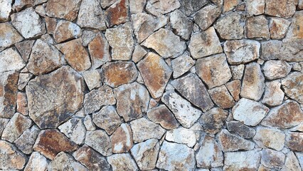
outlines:
M38 39L31 50L27 68L34 75L41 75L60 68L63 63L65 63L63 54L55 46Z

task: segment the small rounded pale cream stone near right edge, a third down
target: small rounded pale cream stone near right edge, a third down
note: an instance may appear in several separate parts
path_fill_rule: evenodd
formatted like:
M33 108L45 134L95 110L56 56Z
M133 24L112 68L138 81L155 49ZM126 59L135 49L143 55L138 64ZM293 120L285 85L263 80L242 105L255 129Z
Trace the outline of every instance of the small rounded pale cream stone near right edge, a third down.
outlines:
M284 78L288 75L292 66L285 61L266 61L263 66L263 73L268 80Z

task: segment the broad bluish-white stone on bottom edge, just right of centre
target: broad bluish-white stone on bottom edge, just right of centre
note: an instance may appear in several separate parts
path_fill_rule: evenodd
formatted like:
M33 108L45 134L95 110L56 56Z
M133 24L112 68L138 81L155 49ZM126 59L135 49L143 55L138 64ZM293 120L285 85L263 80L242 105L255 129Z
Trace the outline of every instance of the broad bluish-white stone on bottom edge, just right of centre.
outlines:
M164 170L193 170L195 167L194 151L186 145L164 141L156 167Z

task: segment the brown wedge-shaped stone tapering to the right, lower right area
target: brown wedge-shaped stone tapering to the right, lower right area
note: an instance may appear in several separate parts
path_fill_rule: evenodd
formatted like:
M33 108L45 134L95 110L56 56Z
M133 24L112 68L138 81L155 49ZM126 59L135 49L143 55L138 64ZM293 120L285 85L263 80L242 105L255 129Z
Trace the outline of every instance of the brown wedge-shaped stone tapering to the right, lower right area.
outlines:
M250 140L245 140L237 135L233 135L228 130L221 130L218 133L218 141L222 146L223 152L233 152L238 150L252 150L255 147L255 143Z

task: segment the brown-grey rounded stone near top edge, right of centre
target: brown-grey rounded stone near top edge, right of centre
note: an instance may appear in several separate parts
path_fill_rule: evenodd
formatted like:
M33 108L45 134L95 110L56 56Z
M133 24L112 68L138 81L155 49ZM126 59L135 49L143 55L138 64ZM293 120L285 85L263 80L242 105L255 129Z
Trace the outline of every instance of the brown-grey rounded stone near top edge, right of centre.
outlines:
M208 5L200 9L193 15L193 21L201 28L202 31L206 30L213 24L214 21L220 16L221 9L215 5Z

